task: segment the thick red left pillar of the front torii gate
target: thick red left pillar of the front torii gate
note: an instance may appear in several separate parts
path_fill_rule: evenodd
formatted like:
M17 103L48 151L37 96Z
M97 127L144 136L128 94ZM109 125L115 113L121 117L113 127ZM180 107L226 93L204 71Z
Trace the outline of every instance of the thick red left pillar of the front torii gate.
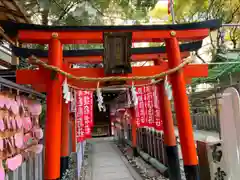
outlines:
M49 64L62 68L62 45L54 34L49 43ZM44 179L60 178L61 151L61 112L62 86L61 76L56 76L47 84L47 121L46 121L46 149Z

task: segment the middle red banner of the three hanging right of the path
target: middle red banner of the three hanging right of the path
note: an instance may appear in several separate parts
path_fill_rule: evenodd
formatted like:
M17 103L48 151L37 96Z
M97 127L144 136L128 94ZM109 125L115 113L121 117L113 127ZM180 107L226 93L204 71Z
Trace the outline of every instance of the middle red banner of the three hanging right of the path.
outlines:
M153 87L145 87L145 107L147 112L147 127L155 128L154 108L153 108Z

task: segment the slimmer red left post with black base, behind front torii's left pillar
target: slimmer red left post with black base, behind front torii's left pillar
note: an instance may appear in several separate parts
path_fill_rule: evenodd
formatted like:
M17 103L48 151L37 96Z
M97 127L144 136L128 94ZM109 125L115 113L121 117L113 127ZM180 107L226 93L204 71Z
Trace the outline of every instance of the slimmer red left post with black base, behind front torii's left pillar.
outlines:
M69 160L68 121L69 121L69 103L65 103L65 100L62 98L61 178L68 169Z

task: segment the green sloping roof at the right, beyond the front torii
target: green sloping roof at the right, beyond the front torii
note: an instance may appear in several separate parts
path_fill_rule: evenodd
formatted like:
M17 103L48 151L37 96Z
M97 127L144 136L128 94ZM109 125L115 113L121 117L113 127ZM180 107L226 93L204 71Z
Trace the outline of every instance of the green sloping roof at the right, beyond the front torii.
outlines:
M218 53L214 61L223 62L224 64L214 65L209 68L207 78L196 78L192 84L200 83L217 83L218 79L229 75L229 73L240 72L240 51L229 51L227 53ZM230 62L230 63L227 63ZM232 63L236 62L236 63ZM239 62L239 63L238 63Z

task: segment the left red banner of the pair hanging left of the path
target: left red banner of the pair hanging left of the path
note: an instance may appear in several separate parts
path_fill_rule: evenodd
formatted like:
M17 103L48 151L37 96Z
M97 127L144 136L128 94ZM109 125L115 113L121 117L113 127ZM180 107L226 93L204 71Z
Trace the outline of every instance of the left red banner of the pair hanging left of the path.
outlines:
M84 120L83 120L83 91L76 91L76 139L77 142L82 142L85 140L85 130L84 130Z

